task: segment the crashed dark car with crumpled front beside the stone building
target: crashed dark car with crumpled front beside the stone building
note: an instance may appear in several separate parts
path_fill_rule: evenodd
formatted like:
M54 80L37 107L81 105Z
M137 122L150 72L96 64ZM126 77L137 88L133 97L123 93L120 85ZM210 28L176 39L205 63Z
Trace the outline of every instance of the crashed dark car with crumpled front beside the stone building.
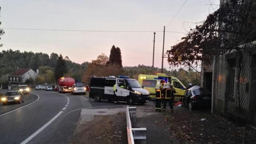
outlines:
M193 86L186 90L182 97L182 106L186 106L189 110L199 107L211 106L211 92L200 86Z

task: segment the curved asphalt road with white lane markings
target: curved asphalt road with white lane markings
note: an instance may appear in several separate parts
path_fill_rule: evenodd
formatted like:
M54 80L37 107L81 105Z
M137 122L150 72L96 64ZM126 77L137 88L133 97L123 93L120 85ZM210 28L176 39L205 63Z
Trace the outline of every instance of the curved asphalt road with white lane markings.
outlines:
M0 143L69 143L81 109L116 106L40 90L24 96L22 104L0 105Z

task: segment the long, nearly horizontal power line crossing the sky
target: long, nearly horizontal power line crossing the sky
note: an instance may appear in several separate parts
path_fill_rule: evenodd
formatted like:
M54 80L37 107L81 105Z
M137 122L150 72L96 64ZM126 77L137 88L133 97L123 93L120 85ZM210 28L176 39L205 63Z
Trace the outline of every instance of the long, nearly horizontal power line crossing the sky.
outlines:
M78 32L162 32L162 31L92 31L92 30L65 30L65 29L26 29L26 28L6 28L0 29L19 29L19 30L37 30L37 31L78 31ZM179 31L168 31L170 33L184 33Z

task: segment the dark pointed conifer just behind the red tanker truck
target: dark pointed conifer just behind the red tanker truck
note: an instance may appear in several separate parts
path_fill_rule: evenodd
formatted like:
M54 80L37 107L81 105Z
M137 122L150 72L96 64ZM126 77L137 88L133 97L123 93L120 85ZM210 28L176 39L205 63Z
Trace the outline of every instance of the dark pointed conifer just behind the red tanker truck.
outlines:
M64 76L64 73L67 72L67 68L66 68L66 61L63 59L63 56L60 54L60 56L58 57L58 60L56 62L56 67L55 67L55 79L56 81L60 78Z

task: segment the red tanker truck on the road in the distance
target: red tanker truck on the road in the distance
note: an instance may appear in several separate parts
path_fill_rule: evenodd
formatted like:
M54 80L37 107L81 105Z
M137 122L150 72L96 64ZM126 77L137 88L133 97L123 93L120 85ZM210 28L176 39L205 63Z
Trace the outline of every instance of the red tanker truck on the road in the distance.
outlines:
M71 77L61 77L58 79L59 93L69 93L71 92L72 85L75 80Z

